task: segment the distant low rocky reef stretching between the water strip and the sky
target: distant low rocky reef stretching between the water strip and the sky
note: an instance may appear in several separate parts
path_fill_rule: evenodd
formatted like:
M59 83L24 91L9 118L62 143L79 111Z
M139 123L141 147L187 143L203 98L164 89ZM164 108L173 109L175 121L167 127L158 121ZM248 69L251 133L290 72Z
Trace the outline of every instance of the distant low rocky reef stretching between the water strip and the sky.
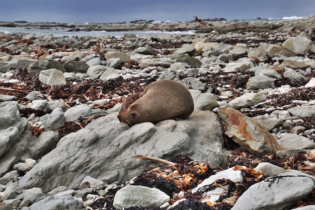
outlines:
M217 20L217 19L214 19ZM219 19L220 20L220 19ZM293 20L269 20L269 21L203 21L201 23L191 22L171 22L154 23L152 21L134 21L132 23L28 23L0 22L4 27L23 27L23 28L66 28L68 31L190 31L196 33L244 33L244 32L283 32L294 33L295 31L312 31L315 24L313 16L303 19ZM312 32L311 32L312 33Z

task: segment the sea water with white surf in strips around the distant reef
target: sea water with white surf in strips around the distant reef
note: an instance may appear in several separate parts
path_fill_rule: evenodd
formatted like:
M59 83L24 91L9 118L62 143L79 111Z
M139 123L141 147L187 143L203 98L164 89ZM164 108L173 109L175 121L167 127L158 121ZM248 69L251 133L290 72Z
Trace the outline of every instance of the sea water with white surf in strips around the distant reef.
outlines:
M300 19L302 17L283 17L283 18L268 18L261 19L263 21L268 20L289 20L289 19ZM230 20L230 21L258 21L256 19L241 19L241 20ZM173 21L167 21L167 23L176 23ZM21 28L21 27L0 27L0 34L10 34L10 33L35 33L38 35L54 35L54 36L115 36L123 37L126 33L132 33L137 36L140 35L161 35L161 34L194 34L195 31L75 31L68 32L69 28L54 27L49 29L39 29L39 28Z

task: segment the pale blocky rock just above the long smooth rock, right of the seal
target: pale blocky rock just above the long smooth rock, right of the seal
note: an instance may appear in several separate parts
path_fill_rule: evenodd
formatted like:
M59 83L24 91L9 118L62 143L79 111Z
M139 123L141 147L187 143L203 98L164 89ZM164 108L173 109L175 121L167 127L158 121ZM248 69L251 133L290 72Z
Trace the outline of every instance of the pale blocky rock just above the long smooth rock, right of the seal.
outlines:
M265 75L251 77L246 83L246 89L266 89L275 87L274 78Z

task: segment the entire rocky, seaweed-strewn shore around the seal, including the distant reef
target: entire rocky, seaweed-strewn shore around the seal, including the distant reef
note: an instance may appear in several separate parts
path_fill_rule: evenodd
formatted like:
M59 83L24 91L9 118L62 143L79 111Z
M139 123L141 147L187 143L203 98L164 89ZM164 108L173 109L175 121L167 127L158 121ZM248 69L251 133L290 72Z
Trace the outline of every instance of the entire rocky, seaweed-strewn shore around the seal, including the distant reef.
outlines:
M0 34L0 210L313 209L314 22ZM189 88L188 119L119 122L126 97L163 79Z

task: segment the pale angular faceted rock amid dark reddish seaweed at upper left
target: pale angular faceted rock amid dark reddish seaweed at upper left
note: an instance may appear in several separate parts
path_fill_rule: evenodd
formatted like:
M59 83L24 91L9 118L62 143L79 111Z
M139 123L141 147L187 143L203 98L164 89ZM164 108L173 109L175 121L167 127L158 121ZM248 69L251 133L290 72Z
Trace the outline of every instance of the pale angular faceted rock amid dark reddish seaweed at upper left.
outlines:
M39 81L50 86L66 84L63 73L56 68L49 68L41 71L39 74Z

